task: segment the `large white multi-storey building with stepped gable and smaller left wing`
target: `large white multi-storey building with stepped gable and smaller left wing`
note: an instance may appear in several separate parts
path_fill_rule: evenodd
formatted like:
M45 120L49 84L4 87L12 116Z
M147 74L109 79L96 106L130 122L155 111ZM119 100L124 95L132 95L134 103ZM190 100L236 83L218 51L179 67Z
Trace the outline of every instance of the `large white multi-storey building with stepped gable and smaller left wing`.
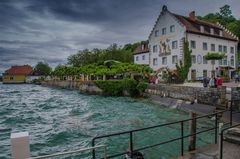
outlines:
M198 20L194 11L185 17L171 13L166 6L163 6L148 37L148 47L144 46L145 42L135 50L134 62L149 64L153 70L163 67L176 69L176 63L183 61L184 41L189 42L192 50L189 80L211 76L211 61L204 59L208 52L223 52L226 55L223 60L215 61L214 70L237 68L238 38L235 35L220 24Z

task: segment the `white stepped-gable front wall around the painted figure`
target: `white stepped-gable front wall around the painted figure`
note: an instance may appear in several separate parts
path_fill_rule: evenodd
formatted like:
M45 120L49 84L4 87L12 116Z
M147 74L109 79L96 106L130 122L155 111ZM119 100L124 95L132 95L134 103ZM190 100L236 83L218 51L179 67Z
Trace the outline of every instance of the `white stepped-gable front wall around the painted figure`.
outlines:
M170 33L170 26L175 26L175 32ZM166 28L166 35L162 35L162 28ZM155 31L159 30L159 36L155 37ZM172 63L172 56L177 55L178 61L182 59L182 49L181 49L181 39L185 37L185 27L182 26L177 19L171 15L169 12L164 12L163 15L159 17L158 22L156 23L155 28L149 36L149 47L150 47L150 67L153 70L158 70L161 67L168 67L170 69L175 68L175 64ZM171 49L170 55L159 56L159 46L160 41L165 41L169 39L169 45ZM172 41L177 41L177 49L172 49ZM153 52L153 46L157 45L157 52ZM162 58L167 57L167 65L162 64ZM153 65L153 59L157 58L157 65Z

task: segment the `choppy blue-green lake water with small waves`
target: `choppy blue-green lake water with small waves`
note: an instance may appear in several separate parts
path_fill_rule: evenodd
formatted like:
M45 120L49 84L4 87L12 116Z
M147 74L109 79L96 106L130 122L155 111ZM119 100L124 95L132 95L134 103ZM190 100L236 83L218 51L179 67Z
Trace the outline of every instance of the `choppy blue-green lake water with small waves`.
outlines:
M37 85L0 84L0 158L11 157L11 132L28 131L31 155L36 156L90 146L91 139L96 135L185 118L188 115L184 112L150 104L146 100L87 96L77 91ZM206 124L203 121L201 127ZM152 144L179 133L178 126L171 126L134 134L134 146ZM205 135L199 138L198 143L211 142L209 138ZM128 142L125 139L123 136L99 142L112 144L108 150L111 153L126 150ZM156 147L143 153L147 158L169 158L179 153L179 143Z

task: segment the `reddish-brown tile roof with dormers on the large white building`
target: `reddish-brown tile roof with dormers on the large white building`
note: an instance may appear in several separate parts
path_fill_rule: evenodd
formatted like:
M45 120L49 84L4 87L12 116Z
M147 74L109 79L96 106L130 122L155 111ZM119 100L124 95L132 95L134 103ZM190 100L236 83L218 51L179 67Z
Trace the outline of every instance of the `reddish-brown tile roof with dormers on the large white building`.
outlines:
M233 34L231 34L230 32L227 32L225 29L221 28L217 24L198 20L197 18L193 20L189 17L185 17L177 14L173 14L173 15L186 27L187 32L189 33L211 36L215 38L232 40L232 41L238 41L238 39ZM204 27L204 32L201 32L200 26ZM210 33L211 28L214 29L214 34ZM219 35L220 31L223 32L222 36Z

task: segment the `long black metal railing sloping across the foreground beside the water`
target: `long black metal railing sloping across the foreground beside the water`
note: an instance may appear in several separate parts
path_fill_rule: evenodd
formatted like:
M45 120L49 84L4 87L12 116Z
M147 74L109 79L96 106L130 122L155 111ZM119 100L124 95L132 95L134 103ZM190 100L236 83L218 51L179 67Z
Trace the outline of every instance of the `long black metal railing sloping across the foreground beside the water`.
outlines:
M164 145L164 144L167 144L167 143L171 143L171 142L174 142L174 141L181 140L181 145L180 145L180 147L181 147L181 156L183 156L184 155L184 139L188 138L190 136L196 136L197 134L201 134L201 133L205 133L205 132L214 130L214 143L217 144L219 115L222 115L223 113L228 112L228 111L230 113L230 116L229 116L230 122L226 123L226 124L232 125L232 112L233 112L233 110L232 110L232 101L231 101L230 110L223 110L223 111L219 111L219 112L215 112L215 113L211 113L211 114L207 114L207 115L202 115L202 116L199 116L199 117L196 117L196 118L189 118L189 119L176 121L176 122L171 122L171 123L166 123L166 124L160 124L160 125L155 125L155 126L150 126L150 127L130 130L130 131L123 131L123 132L119 132L119 133L113 133L113 134L108 134L108 135L97 136L97 137L94 137L92 139L92 146L93 147L95 146L95 142L98 139L109 138L109 137L119 136L119 135L128 135L129 136L129 151L123 151L123 152L120 152L120 153L116 153L116 154L107 156L107 158L114 158L114 157L122 156L122 155L125 155L125 154L130 154L130 157L132 157L133 152L137 152L137 151L141 151L141 150L145 150L145 149L149 149L149 148L153 148L153 147L156 147L156 146L160 146L160 145ZM184 135L184 123L185 122L188 122L188 121L191 121L191 120L195 120L196 124L197 124L197 120L198 119L206 118L206 117L213 117L213 116L215 117L214 127L211 127L209 129L206 129L206 130L198 131L196 133L191 133L191 134L188 134L188 135ZM134 148L134 143L133 143L133 134L134 133L137 133L139 131L159 128L159 127L165 127L165 126L169 126L169 125L173 125L173 124L180 124L181 136L176 137L174 139L166 140L166 141L163 141L163 142L160 142L160 143L157 143L157 144L147 145L147 146L144 146L144 147L141 147L141 148ZM96 158L95 150L92 151L92 158L93 159Z

